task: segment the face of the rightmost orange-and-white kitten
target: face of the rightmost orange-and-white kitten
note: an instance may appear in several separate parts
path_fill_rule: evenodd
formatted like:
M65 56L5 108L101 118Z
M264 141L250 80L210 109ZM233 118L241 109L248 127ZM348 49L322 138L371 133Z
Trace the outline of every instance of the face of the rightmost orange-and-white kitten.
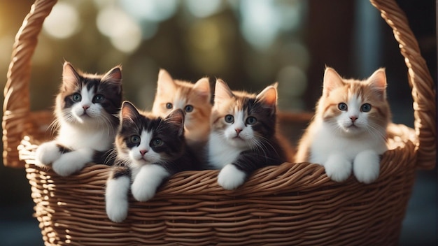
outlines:
M390 110L384 69L377 70L367 80L345 80L327 68L318 112L334 132L347 136L385 131Z

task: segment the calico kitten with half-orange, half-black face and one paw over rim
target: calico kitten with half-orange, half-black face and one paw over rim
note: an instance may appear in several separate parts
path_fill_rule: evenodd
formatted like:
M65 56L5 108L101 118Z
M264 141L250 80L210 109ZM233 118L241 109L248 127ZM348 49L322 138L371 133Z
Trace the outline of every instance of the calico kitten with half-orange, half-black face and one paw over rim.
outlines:
M211 168L221 169L218 184L224 189L236 189L258 168L286 161L276 138L276 103L275 85L255 95L216 81L207 156Z

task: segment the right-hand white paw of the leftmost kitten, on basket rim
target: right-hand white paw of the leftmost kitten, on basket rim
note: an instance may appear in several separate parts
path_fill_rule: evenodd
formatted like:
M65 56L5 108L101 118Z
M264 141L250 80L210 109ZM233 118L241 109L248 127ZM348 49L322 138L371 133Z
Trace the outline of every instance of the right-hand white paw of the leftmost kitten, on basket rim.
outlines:
M89 161L84 161L80 152L64 153L52 163L52 169L60 176L66 177L80 171Z

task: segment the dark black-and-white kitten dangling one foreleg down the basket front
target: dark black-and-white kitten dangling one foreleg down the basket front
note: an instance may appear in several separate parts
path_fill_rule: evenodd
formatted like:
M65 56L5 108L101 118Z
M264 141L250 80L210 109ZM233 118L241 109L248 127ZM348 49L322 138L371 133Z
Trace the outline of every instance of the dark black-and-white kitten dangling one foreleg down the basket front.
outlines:
M181 109L155 117L125 101L115 147L117 157L105 192L106 214L113 222L127 217L129 187L137 201L148 201L171 175L199 170L197 157L185 143Z

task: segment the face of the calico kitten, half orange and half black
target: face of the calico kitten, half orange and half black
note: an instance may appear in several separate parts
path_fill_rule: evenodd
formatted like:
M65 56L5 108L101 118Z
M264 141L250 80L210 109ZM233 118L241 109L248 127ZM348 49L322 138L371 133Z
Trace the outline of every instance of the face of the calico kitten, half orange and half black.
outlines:
M254 149L264 138L274 136L276 97L275 86L255 95L232 92L225 82L216 81L212 131L229 145Z

